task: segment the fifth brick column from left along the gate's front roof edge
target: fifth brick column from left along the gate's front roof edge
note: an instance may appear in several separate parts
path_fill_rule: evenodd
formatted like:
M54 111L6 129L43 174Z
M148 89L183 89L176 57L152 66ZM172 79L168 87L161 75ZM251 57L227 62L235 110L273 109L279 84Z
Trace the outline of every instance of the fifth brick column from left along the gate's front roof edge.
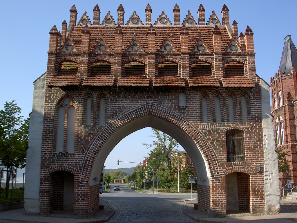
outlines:
M181 63L180 63L180 75L183 78L189 77L189 31L185 25L181 27Z

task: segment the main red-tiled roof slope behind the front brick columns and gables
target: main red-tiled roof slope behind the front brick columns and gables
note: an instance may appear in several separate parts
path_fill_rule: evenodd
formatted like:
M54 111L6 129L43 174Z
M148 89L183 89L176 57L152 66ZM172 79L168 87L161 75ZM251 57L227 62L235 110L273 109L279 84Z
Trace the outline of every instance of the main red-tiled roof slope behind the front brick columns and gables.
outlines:
M116 27L117 26L89 26L91 32L90 52L92 52L97 46L101 36L104 38L110 51L113 52ZM83 28L83 26L74 26L70 34L71 39L73 40L73 43L79 52L81 49L81 32ZM149 31L149 26L121 26L121 29L123 32L123 52L126 52L127 48L130 47L129 44L131 43L131 40L135 38L135 33L143 51L147 51L147 33ZM206 45L206 47L211 52L213 51L212 33L214 31L214 26L187 26L187 29L189 31L189 51L194 50L197 39L200 37L199 33L202 34L201 39L203 40L203 43ZM230 44L230 37L225 26L219 26L218 29L221 33L222 53L224 53ZM156 51L159 51L164 41L167 39L167 37L169 37L176 51L180 52L181 26L154 26L154 31L156 32ZM168 33L169 36L167 35Z

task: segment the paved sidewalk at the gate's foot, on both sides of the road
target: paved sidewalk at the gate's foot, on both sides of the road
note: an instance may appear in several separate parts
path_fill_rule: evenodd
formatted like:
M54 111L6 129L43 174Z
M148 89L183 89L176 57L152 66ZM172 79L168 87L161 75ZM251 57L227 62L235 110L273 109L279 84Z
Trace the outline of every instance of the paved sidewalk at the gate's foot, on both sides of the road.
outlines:
M152 193L153 191L147 191ZM156 192L157 193L157 192ZM162 192L163 193L163 192ZM107 222L115 213L107 200L100 199L100 204L104 205L104 210L100 210L94 214L93 219L80 219L72 216L67 211L55 211L49 215L28 215L24 214L23 209L15 209L0 212L0 222L2 223L97 223ZM259 214L231 214L223 218L208 218L206 213L194 210L194 204L197 198L186 200L183 203L183 212L195 222L204 223L294 223L297 222L297 203L281 201L281 213L263 213Z

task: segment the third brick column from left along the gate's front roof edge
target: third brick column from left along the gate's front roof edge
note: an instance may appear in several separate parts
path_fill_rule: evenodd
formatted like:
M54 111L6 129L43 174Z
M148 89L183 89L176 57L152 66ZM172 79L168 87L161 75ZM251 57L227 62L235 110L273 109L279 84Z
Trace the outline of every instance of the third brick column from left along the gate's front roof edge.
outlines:
M113 77L120 78L122 72L122 43L123 31L120 25L117 26L115 31L114 41L114 59L113 59Z

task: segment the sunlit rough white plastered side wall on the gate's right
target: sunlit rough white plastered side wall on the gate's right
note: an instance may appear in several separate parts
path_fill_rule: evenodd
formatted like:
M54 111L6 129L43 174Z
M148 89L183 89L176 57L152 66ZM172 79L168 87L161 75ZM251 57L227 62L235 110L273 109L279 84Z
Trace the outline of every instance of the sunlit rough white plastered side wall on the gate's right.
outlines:
M270 112L270 86L261 79L264 144L265 211L279 212L278 154L275 151L274 125Z

